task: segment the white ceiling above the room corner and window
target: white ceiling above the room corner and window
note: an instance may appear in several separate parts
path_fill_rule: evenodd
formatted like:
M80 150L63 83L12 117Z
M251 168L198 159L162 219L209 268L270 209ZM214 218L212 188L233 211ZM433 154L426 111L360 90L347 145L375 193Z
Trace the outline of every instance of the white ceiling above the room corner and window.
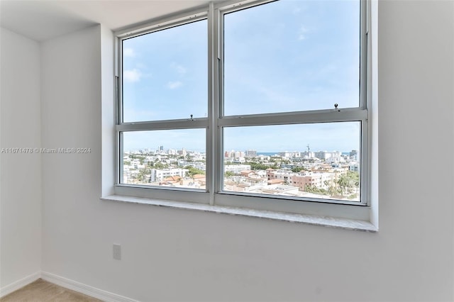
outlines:
M43 41L99 23L118 30L208 3L205 0L0 0L0 26Z

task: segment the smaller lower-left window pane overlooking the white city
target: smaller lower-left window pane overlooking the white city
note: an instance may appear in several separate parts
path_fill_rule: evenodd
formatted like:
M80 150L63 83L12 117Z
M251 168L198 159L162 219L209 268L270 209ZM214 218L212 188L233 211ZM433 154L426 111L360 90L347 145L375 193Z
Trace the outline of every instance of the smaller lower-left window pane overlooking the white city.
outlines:
M205 189L205 129L123 133L122 184Z

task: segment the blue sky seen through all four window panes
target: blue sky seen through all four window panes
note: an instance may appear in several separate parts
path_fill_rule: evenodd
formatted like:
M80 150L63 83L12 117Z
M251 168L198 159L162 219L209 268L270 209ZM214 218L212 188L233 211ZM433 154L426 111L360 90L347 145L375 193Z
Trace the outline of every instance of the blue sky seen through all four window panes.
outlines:
M360 1L281 0L226 15L226 115L359 104ZM206 117L207 24L123 41L124 121ZM226 150L349 151L359 123L226 129ZM266 135L265 135L266 133ZM128 133L125 150L204 150L204 130ZM298 138L298 139L295 139Z

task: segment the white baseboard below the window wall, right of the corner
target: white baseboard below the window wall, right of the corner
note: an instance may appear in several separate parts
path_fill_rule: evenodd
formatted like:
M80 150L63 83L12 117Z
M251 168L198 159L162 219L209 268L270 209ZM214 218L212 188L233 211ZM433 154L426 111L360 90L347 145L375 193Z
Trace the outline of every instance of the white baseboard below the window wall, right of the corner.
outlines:
M138 302L137 300L126 298L117 295L116 293L110 293L109 291L103 291L102 289L96 289L93 286L82 284L48 272L41 272L41 279L106 302Z

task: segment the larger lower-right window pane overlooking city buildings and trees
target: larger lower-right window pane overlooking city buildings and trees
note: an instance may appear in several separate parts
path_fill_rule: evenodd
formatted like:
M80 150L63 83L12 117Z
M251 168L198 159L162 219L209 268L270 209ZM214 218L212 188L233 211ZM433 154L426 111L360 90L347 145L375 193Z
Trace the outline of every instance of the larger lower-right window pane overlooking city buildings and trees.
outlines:
M360 122L223 129L223 191L360 201Z

